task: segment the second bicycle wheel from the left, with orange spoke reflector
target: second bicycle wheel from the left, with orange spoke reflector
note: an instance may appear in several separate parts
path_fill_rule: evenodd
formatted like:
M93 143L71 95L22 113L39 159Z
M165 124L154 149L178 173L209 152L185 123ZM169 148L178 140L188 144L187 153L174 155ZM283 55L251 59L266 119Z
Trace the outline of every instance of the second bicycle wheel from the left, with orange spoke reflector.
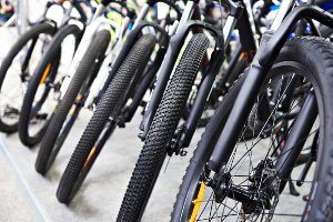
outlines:
M75 24L69 24L57 32L29 81L19 118L19 137L27 147L39 143L48 127L52 104L46 103L46 101L57 98L63 77L58 71L61 60L60 52L63 43L69 42L72 37L74 38L74 49L67 49L63 56L65 59L74 53L81 39L81 30Z

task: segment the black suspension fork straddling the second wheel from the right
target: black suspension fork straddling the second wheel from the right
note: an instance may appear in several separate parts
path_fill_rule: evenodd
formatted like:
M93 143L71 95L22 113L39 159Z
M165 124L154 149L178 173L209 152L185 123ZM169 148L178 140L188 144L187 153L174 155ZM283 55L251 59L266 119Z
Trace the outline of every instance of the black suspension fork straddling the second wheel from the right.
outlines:
M189 1L190 2L190 1ZM188 2L188 3L189 3ZM191 3L191 2L190 2ZM148 133L149 127L152 122L152 119L154 117L154 113L157 112L158 105L160 104L160 101L162 100L162 95L163 92L168 85L168 80L170 78L170 73L172 72L173 65L176 61L178 54L180 52L181 47L183 46L184 39L188 36L188 32L190 31L190 29L192 29L194 32L200 31L202 32L203 29L206 29L211 32L213 32L216 37L216 46L218 48L222 49L222 54L220 58L220 61L216 60L214 62L214 65L211 65L209 68L209 72L211 74L206 74L204 77L203 82L200 85L200 91L199 94L196 95L196 98L201 98L201 100L203 99L204 101L206 100L206 98L209 97L210 92L211 92L211 88L212 84L214 82L215 75L219 72L219 69L222 64L223 58L224 58L224 42L229 42L230 37L231 37L231 32L235 26L236 22L236 18L239 18L242 12L243 12L243 7L241 3L239 2L232 2L232 1L226 1L228 7L230 8L230 17L226 20L225 24L224 24L224 29L222 33L219 33L218 30L215 30L212 26L209 26L208 23L201 22L201 21L189 21L185 23L185 21L188 20L188 18L190 17L182 17L181 21L180 21L180 26L178 27L178 32L175 36L172 37L169 49L167 51L167 56L165 59L159 70L159 79L157 82L157 88L152 94L151 98L151 102L148 107L148 110L145 112L145 115L143 117L143 120L141 122L140 129L143 131L141 133L141 138L144 139L145 134ZM188 6L188 4L186 4ZM188 10L189 9L189 10ZM191 7L186 7L186 14L191 14L190 10L194 13L193 16L198 17L199 12L198 10L195 10L194 4L192 2ZM220 39L222 38L222 39ZM219 50L220 50L219 49ZM215 49L216 50L216 49ZM220 54L221 51L215 52L216 54ZM218 62L221 62L220 65ZM216 69L216 65L219 65L219 69ZM212 68L214 67L214 68ZM215 73L216 72L216 73ZM196 102L195 102L196 101ZM188 125L185 125L185 131L188 135L184 135L184 138L182 139L183 142L181 142L182 145L189 145L191 138L193 137L196 123L198 123L198 119L200 118L200 115L203 112L204 109L204 104L198 100L194 101L194 105L193 105L193 110L195 110L195 112L191 112L190 117L186 121Z

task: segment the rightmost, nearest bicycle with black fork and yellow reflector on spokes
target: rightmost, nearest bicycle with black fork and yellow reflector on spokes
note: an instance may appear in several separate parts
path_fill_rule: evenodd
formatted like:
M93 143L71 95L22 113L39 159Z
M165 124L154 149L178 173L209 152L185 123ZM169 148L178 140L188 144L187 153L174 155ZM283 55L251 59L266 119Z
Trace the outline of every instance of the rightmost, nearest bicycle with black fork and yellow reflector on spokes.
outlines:
M313 6L301 6L285 17L293 6L294 1L282 1L250 69L208 124L186 169L171 221L271 221L273 216L332 220L331 130L326 117L332 113L329 82L333 46L316 37L287 39L299 20L306 18L320 36L311 19L332 27L333 16ZM294 97L299 92L301 97ZM244 138L251 128L249 121L256 122L260 132L250 140ZM279 209L282 191L306 141L313 155L297 184L310 183L309 191L300 204ZM305 181L314 161L314 181Z

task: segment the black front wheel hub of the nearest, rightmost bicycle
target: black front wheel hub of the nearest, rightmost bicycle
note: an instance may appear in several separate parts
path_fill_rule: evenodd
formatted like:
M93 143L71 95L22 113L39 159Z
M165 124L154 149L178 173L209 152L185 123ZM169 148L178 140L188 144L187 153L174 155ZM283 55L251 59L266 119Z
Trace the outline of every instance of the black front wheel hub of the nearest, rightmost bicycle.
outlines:
M253 216L269 210L266 220L270 221L280 195L280 180L278 180L276 170L273 169L273 162L271 160L260 162L251 172L249 181L251 182L249 188L243 189L233 184L230 172L221 175L216 173L211 182L215 201L222 203L225 198L233 199L242 203L242 213L253 214Z

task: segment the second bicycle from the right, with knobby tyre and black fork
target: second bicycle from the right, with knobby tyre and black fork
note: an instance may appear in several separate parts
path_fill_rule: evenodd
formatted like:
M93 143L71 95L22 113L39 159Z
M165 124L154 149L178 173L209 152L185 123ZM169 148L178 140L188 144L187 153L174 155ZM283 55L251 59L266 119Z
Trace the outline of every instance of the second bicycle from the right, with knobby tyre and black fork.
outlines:
M163 71L161 71L160 79L157 82L157 89L167 89L160 92L154 91L147 109L145 117L148 118L143 119L143 128L141 128L143 130L141 135L144 138L144 145L129 182L118 214L118 221L140 220L165 157L168 154L185 154L184 148L190 144L193 137L214 79L220 71L231 32L236 23L241 43L249 56L248 58L251 59L253 51L256 50L255 30L252 29L245 7L243 7L242 2L233 3L229 1L224 2L224 4L230 8L231 13L226 18L223 34L212 26L200 21L190 21L173 37L174 42L171 46L174 48L170 50L172 54L167 53L169 57L165 56L165 63L161 67ZM192 2L191 6L189 1L188 6L192 10L195 4ZM173 69L173 62L178 58L178 50L183 44L182 38L185 38L189 30L196 26L211 32L215 39L215 46L210 63L203 63L203 65L205 64L205 74L200 83L191 113L186 121L181 123L181 113L208 49L208 39L204 34L195 33L192 37L191 43L186 47L169 83L168 80ZM165 79L163 80L163 78Z

